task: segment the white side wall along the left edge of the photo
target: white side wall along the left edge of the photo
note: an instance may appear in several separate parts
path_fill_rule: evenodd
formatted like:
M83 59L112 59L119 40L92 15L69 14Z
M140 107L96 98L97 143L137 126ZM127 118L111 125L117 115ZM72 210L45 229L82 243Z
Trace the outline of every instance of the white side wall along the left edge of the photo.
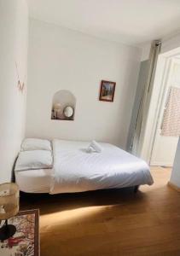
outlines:
M0 0L0 183L9 182L25 133L26 92L17 89L15 61L26 80L26 0Z

